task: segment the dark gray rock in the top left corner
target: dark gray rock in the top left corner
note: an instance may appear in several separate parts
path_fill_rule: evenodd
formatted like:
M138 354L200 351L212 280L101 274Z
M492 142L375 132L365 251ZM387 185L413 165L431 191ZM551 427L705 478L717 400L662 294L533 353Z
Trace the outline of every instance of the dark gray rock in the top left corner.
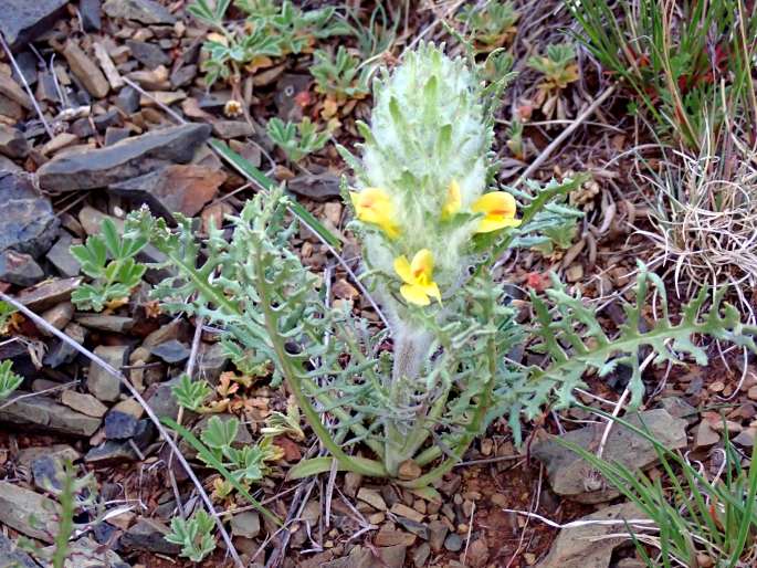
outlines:
M6 0L0 32L12 50L25 45L52 28L69 0Z

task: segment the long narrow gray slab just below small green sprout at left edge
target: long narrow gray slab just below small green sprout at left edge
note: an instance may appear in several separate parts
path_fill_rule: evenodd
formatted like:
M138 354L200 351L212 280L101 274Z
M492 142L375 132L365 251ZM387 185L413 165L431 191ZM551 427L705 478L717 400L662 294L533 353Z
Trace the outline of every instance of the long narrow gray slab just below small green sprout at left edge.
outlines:
M15 391L8 404L0 410L0 421L28 424L62 434L90 436L99 428L102 420L76 412L45 397L19 398Z

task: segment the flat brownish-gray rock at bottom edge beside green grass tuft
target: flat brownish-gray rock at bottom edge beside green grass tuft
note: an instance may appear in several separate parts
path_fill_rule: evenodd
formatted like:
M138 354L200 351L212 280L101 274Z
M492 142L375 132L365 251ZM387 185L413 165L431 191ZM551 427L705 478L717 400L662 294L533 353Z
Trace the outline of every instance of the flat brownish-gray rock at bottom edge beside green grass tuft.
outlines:
M634 520L643 515L632 503L621 503L592 513L580 520ZM608 535L625 533L623 523L597 524L564 528L553 544L549 555L537 568L607 568L612 550L628 543L624 536L611 538Z

